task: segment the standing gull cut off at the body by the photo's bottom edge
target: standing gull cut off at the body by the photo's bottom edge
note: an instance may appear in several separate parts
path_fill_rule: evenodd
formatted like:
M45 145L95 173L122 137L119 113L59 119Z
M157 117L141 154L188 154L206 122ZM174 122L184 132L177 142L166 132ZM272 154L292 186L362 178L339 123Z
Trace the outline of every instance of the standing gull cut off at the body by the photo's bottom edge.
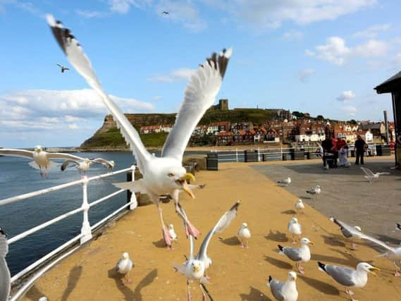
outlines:
M298 291L295 281L297 280L297 273L290 271L288 273L288 280L280 282L269 276L269 281L266 286L270 288L271 293L278 301L297 301Z

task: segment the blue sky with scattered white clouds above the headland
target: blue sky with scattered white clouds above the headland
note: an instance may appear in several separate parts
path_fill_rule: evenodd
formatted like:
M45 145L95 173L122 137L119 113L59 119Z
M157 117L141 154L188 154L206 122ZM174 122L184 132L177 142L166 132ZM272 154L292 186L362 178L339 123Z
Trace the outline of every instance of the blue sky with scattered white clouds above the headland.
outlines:
M232 47L217 97L231 109L381 121L383 110L392 119L391 97L373 89L401 70L400 8L399 0L0 0L0 147L78 146L108 113L56 44L47 13L70 28L125 113L178 111L193 70Z

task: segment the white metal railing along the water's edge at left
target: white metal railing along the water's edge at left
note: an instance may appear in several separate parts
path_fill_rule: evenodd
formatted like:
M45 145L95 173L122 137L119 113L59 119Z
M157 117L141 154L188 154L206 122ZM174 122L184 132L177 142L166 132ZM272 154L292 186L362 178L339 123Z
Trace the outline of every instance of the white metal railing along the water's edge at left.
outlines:
M49 192L54 192L57 190L63 190L75 185L82 185L82 205L81 207L74 209L72 211L68 211L66 214L61 214L60 216L57 216L54 219L51 219L50 221L47 221L45 223L42 223L38 226L35 226L33 228L28 229L27 231L20 233L16 236L13 236L13 238L10 238L8 240L8 244L11 245L14 242L17 242L18 240L21 240L25 237L27 237L28 235L31 235L43 228L46 228L47 226L50 226L58 221L61 221L63 219L66 219L68 216L72 216L73 214L77 214L79 212L83 212L83 218L82 218L82 227L81 227L81 232L79 235L75 236L74 238L68 240L68 242L65 242L63 245L57 247L55 250L49 252L48 254L46 254L44 257L38 259L36 262L33 262L32 264L30 264L30 266L27 266L25 269L23 269L22 271L19 271L16 275L14 275L11 278L11 283L14 283L15 281L17 281L19 278L21 278L22 276L24 276L25 274L27 274L28 272L32 271L33 269L35 269L37 266L39 266L40 264L42 264L43 262L46 262L47 259L53 257L55 254L57 254L58 252L61 252L63 250L66 250L66 248L70 247L70 245L73 245L75 242L78 242L78 240L80 241L80 245L82 245L83 243L87 242L88 240L90 240L92 238L92 231L101 226L104 222L108 221L109 219L111 219L111 217L115 216L116 214L118 214L119 212L121 212L123 209L125 209L126 207L130 207L130 210L134 210L137 207L137 199L135 197L135 193L132 193L131 195L131 199L130 202L128 202L127 204L124 204L122 207L118 208L116 211L113 211L111 214L109 214L108 216L106 216L104 219L101 219L101 221L95 223L93 226L90 226L90 221L88 219L88 213L91 207L94 207L97 204L100 204L101 202L106 201L107 199L110 199L111 197L114 197L115 195L120 194L121 192L123 192L124 190L117 190L116 192L113 192L109 195L106 195L105 197L101 197L100 199L95 200L94 202L88 203L88 197L87 197L87 185L88 183L90 183L90 181L92 180L98 180L100 178L107 178L110 176L116 176L118 174L121 173L128 173L132 171L132 181L135 180L135 166L131 166L130 168L125 168L125 169L121 169L120 171L113 171L110 173L104 173L102 175L99 176L93 176L90 178L87 178L87 176L83 177L81 180L75 180L73 182L70 183L66 183L66 184L62 184L62 185L57 185L51 188L45 188L42 190L37 190L35 192L29 192L29 193L25 193L24 195L18 195L16 197L8 197L6 199L1 199L0 200L0 206L4 206L6 204L11 204L14 202L20 202L24 199L29 199L31 197L37 197L39 195L44 195L47 194ZM75 248L76 249L76 248ZM75 250L74 249L74 250ZM68 252L68 254L70 254L72 252ZM66 255L63 255L63 257L65 257ZM56 259L58 260L58 259ZM54 264L54 262L52 262L51 264ZM32 283L37 279L38 275L42 275L44 274L45 271L47 271L47 269L49 269L49 266L44 267L42 270L38 271L37 274L35 274L34 276L32 276L32 278L30 278L27 283L25 283L23 285L23 287L21 287L14 295L13 297L11 297L11 300L18 300L18 298L23 294L23 290L26 290L26 288L29 288L30 285L32 285Z

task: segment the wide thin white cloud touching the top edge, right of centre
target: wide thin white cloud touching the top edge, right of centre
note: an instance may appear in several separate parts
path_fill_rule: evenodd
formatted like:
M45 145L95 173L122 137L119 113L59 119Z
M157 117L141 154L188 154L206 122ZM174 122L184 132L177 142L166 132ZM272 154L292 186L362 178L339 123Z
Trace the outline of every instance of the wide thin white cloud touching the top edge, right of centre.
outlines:
M308 24L335 20L340 16L369 8L376 0L204 0L228 11L235 19L256 27L276 28L285 21Z

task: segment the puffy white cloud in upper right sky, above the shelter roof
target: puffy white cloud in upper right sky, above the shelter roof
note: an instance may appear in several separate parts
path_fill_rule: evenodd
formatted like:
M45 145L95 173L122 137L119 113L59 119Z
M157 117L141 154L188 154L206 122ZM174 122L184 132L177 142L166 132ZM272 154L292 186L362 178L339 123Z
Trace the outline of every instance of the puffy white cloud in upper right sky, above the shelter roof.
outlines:
M326 44L316 46L316 51L306 49L305 54L307 54L307 56L316 56L318 59L341 66L351 57L369 58L385 56L388 49L390 49L388 42L376 39L370 39L364 44L348 47L345 43L345 39L341 37L328 37Z

